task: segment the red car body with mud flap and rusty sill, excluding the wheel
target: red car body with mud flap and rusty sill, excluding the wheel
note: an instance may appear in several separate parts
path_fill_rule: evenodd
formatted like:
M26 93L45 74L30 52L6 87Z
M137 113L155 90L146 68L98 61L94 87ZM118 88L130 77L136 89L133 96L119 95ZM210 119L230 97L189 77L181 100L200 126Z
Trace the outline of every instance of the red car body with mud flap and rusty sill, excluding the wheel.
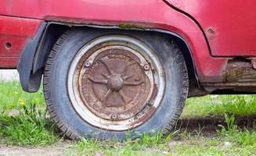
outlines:
M0 68L18 69L37 91L50 49L65 30L157 32L175 38L189 75L189 97L253 94L256 2L228 0L3 0Z

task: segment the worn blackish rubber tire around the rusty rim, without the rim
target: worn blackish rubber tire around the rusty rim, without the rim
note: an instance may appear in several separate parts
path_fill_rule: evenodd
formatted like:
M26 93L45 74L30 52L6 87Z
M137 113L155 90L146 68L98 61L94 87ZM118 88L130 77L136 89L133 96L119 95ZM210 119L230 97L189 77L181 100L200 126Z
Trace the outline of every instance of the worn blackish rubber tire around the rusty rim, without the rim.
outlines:
M182 51L175 44L175 41L170 37L154 32L92 28L67 30L56 41L45 65L45 101L52 119L59 126L59 129L71 139L79 139L85 136L102 140L112 137L116 137L118 140L126 139L128 131L115 132L99 129L81 119L70 104L67 93L67 72L74 55L88 41L108 34L128 35L144 42L156 53L165 70L166 83L162 103L150 119L141 126L130 129L130 135L138 137L138 134L150 133L152 129L155 132L167 134L175 126L179 115L182 113L188 94L188 73Z

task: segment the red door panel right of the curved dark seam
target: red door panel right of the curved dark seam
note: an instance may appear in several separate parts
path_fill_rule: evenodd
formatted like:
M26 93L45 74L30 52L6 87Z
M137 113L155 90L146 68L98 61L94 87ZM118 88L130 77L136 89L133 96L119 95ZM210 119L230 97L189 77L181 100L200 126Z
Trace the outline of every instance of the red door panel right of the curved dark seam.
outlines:
M211 46L212 55L256 55L255 0L167 1L200 23Z

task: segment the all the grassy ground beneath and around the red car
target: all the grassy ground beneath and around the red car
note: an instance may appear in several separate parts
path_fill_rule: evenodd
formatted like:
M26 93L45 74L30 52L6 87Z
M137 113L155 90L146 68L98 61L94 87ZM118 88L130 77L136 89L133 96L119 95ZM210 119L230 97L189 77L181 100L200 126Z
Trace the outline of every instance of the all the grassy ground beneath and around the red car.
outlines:
M0 155L256 155L256 96L207 95L186 101L167 137L118 142L69 140L45 112L42 90L0 82Z

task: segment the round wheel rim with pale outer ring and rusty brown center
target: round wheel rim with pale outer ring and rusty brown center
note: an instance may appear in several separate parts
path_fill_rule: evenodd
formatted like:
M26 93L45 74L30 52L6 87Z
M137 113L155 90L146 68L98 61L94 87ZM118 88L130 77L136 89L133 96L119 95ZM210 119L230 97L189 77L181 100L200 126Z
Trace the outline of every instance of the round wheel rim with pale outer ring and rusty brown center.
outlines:
M164 95L164 70L141 41L103 36L85 44L70 64L68 93L92 126L128 130L153 115Z

